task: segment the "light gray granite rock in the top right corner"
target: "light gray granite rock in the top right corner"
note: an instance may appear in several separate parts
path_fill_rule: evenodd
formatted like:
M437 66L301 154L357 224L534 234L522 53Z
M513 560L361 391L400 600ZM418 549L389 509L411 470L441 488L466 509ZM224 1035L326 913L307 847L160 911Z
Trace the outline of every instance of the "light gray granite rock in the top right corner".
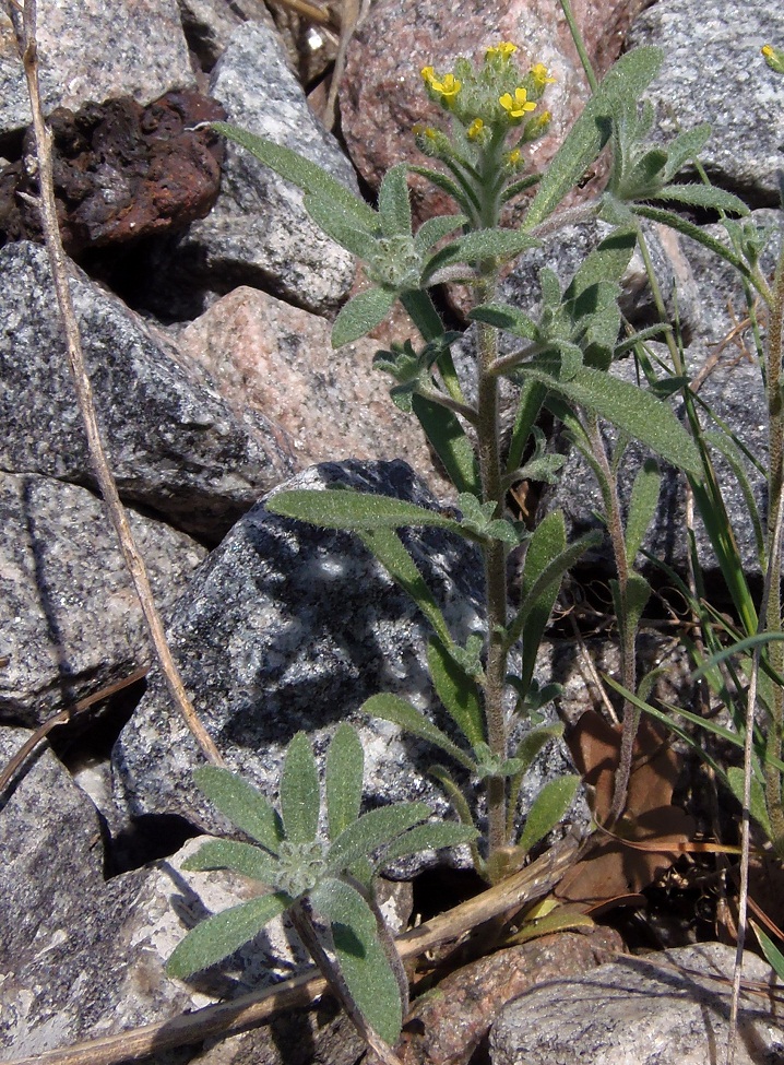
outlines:
M758 206L779 203L784 140L784 82L760 47L783 37L784 11L765 0L658 0L629 34L631 47L664 48L645 94L657 135L666 141L710 122L713 137L701 153L709 176Z

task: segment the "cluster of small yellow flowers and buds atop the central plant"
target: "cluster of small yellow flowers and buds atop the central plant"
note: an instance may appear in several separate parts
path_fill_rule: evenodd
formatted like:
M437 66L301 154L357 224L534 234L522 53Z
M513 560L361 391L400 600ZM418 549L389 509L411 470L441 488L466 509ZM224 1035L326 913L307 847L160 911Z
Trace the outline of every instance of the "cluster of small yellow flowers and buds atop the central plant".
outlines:
M509 133L522 127L513 145L498 158L508 169L523 165L521 145L542 137L549 126L549 111L534 113L556 79L544 63L521 75L512 61L516 51L516 45L503 40L488 48L477 66L461 57L454 70L446 74L423 67L428 95L452 116L454 125L452 139L432 127L416 126L414 133L421 152L448 161L467 146L471 162L476 163L483 150L491 147L499 153Z

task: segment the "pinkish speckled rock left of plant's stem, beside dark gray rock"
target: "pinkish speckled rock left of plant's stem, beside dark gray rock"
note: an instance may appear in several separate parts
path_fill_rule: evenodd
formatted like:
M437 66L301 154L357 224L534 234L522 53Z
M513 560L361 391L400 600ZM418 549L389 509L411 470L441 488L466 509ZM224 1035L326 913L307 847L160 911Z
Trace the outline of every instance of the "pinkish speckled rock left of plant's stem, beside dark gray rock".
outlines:
M323 318L254 288L236 288L179 336L238 417L248 409L280 425L301 466L326 460L403 459L432 489L451 483L432 464L418 423L372 368L378 344L333 351Z

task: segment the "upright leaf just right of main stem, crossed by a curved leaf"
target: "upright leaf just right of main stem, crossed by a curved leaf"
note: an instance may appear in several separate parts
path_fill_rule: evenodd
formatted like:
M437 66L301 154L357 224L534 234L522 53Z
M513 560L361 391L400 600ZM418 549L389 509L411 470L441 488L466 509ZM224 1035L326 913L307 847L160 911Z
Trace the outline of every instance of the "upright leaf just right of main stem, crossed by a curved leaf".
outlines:
M550 566L567 546L566 524L563 513L558 510L544 518L531 537L525 552L525 567L520 589L521 604L526 603L526 616L522 627L523 655L520 678L527 690L536 665L536 652L550 619L553 607L556 605L558 592L563 579L563 570L554 572L553 580L546 585L539 584L539 592L528 601L532 589L539 580L545 569ZM526 602L528 601L528 602Z

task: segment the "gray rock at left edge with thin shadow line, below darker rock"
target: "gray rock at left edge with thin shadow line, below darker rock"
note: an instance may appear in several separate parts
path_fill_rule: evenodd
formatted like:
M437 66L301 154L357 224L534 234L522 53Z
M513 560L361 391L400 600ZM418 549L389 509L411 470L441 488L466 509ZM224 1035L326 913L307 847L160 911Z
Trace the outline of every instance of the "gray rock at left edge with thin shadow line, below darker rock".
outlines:
M86 488L0 474L0 720L25 725L150 662L146 627L115 531ZM166 614L206 551L128 511Z

